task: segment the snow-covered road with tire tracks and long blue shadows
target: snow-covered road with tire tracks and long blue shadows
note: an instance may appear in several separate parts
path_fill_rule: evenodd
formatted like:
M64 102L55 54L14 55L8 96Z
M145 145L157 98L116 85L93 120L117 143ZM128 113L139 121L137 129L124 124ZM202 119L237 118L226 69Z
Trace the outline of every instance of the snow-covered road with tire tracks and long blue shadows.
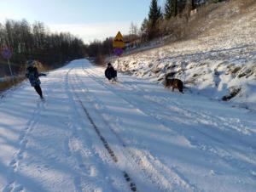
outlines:
M254 191L256 114L86 59L0 100L0 190Z

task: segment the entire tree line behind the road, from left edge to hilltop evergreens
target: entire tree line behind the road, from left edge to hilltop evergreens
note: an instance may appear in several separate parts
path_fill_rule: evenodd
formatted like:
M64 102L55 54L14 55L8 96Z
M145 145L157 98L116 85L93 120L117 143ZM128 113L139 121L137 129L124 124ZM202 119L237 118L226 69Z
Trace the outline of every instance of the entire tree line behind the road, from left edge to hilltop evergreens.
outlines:
M151 0L148 17L140 27L131 23L129 34L124 36L127 47L137 47L170 34L181 37L190 10L207 1L217 3L223 0L166 0L163 8L157 0ZM85 45L70 33L51 33L42 22L31 25L26 20L6 20L4 24L0 23L0 48L8 46L12 49L11 62L16 71L27 59L38 59L44 65L52 66L87 56L103 64L105 57L113 54L112 44L113 37L108 37L104 41L95 40ZM0 57L0 64L3 62ZM0 65L0 70L8 71L8 68L5 66L3 70L3 65Z

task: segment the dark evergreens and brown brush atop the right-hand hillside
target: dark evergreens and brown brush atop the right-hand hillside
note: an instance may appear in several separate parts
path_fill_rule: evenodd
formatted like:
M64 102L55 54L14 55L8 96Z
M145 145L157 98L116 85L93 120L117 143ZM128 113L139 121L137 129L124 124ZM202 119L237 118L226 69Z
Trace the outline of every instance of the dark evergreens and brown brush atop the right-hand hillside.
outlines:
M158 1L152 0L148 18L143 20L141 26L141 37L143 41L151 41L154 38L168 35L175 31L176 18L183 19L179 22L188 23L191 10L201 7L205 3L222 1L224 0L166 0L164 8L160 8Z

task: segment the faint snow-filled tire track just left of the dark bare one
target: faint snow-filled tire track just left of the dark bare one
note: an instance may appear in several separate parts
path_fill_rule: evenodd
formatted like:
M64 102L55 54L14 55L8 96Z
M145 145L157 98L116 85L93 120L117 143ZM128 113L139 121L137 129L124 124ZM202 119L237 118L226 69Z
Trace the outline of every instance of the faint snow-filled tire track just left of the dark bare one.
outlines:
M69 82L69 73L73 70L71 68L67 71L66 80L65 80L65 90L68 96L71 105L73 106L71 113L73 116L69 116L68 121L68 128L71 131L71 134L64 141L64 148L66 151L66 155L68 157L74 157L79 173L74 176L73 184L75 185L76 191L94 191L98 188L96 184L94 184L94 180L98 176L98 168L93 163L96 163L95 160L91 160L90 156L92 151L86 148L86 144L84 144L81 139L83 139L83 133L81 133L81 129L78 128L77 121L74 121L74 117L80 116L78 108L80 107L79 104L75 102L74 95L72 93L72 88ZM83 116L84 117L84 116ZM88 142L88 141L87 141ZM84 149L85 147L85 149ZM84 161L84 158L86 160ZM93 163L92 163L93 161ZM101 178L103 179L103 178ZM110 190L110 189L109 189Z

